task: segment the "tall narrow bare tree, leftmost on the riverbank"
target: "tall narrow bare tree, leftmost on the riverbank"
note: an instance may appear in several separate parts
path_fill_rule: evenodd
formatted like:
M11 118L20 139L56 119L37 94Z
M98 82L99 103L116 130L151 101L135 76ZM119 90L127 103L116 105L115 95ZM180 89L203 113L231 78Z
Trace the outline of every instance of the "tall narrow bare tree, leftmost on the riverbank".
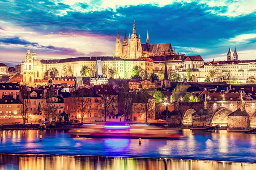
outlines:
M23 118L23 124L25 124L28 113L29 113L29 108L30 108L31 88L20 85L19 90L20 90L19 98L20 98L20 104L21 104L19 113L21 113L21 116Z

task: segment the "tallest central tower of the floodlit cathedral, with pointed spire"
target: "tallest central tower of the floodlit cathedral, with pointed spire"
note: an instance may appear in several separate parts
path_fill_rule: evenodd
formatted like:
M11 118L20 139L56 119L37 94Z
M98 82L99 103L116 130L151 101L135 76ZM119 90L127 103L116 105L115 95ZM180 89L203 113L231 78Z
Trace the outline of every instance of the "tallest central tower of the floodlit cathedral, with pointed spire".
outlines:
M137 57L137 54L139 53L138 47L140 46L140 37L138 37L137 35L135 20L134 20L134 28L132 30L131 37L129 36L128 44L129 44L128 58L135 59L140 57L140 56Z

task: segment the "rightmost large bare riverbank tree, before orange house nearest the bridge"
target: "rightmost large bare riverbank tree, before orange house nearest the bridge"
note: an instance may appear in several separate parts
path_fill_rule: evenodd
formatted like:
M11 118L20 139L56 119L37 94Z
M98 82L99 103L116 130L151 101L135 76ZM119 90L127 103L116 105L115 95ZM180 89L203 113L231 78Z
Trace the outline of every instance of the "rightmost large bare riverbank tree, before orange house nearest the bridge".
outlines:
M137 95L137 102L139 102L138 109L140 110L140 116L145 114L145 122L148 122L148 118L151 118L155 112L154 97L151 96L148 89L146 89Z

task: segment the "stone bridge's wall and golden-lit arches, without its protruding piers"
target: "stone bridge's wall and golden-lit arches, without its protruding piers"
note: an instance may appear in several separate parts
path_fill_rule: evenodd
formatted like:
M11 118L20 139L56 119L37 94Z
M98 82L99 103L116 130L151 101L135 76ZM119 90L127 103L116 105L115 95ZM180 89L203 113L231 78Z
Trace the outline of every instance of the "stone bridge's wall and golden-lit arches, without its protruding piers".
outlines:
M256 101L208 101L206 108L211 125L227 126L228 115L237 109L249 114L250 127L256 127ZM174 109L181 114L183 125L192 125L192 114L204 108L204 102L174 102Z

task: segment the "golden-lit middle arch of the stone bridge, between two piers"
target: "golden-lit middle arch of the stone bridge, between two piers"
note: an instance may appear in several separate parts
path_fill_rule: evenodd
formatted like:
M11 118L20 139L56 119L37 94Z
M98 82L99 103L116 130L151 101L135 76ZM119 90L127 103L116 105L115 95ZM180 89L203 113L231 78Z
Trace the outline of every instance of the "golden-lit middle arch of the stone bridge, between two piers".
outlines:
M227 116L232 113L228 108L219 108L213 115L212 115L212 126L220 125L220 126L227 126Z

